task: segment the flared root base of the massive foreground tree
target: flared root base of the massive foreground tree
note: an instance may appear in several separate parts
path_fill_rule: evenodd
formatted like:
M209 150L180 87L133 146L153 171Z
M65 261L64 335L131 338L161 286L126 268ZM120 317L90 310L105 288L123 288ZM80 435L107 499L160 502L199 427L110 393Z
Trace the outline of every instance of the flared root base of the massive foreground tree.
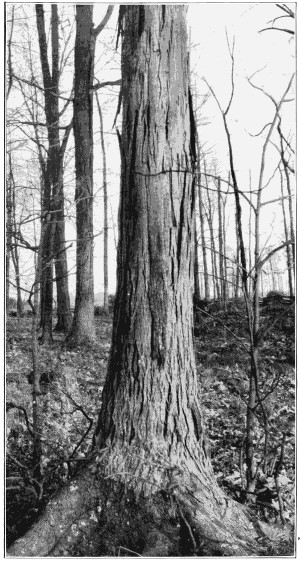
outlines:
M105 474L108 451L47 505L9 556L254 556L257 531L243 506L186 474L137 497L134 478ZM221 492L221 494L220 494ZM207 494L210 499L207 501ZM212 511L213 506L213 511Z

